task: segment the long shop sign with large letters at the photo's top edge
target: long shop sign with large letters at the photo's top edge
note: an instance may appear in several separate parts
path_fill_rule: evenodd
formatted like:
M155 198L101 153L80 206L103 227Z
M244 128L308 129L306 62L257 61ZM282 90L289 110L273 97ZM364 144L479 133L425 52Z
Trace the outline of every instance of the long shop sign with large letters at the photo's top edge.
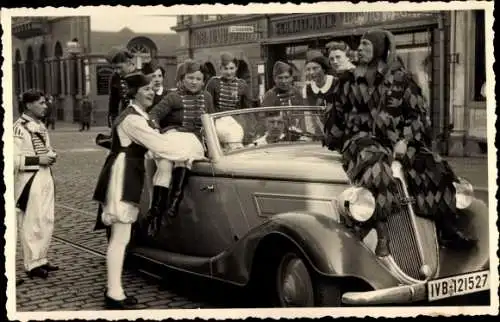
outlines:
M271 22L273 37L289 36L301 33L316 33L333 28L353 28L365 25L377 25L387 22L408 21L435 17L435 11L420 12L337 12L329 14L290 15Z

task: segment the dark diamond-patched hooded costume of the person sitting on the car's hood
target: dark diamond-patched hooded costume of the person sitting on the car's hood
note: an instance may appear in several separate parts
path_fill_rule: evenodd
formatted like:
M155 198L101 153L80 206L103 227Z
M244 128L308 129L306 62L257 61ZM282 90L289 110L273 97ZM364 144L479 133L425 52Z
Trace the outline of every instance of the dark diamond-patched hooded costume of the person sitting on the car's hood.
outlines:
M366 71L358 66L339 80L334 106L327 113L325 144L341 151L350 180L374 194L375 223L399 207L391 163L396 144L406 144L401 162L417 215L434 219L442 240L455 238L460 245L469 245L472 240L454 226L457 177L428 148L431 124L421 89L403 66L394 63L392 34L372 31L363 37L373 44L374 57ZM387 243L379 237L381 253Z

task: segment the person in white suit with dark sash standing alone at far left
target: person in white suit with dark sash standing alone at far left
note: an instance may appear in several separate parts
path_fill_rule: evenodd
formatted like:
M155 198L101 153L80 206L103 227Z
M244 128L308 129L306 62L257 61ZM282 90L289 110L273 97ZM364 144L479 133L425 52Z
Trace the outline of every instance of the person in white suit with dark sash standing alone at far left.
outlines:
M54 180L50 166L56 153L42 119L47 111L42 92L23 94L23 114L14 123L14 195L23 249L30 278L47 278L59 268L49 264L47 251L54 230Z

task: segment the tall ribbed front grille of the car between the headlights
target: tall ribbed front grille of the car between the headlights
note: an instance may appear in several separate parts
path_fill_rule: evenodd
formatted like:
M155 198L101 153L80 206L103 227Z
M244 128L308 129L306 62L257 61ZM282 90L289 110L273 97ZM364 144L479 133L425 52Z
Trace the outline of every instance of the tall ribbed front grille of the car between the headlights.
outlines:
M405 200L403 185L396 179L398 197ZM424 279L422 265L428 265L435 274L438 265L438 250L435 225L426 218L413 216L410 204L402 205L387 219L389 249L399 268L409 277Z

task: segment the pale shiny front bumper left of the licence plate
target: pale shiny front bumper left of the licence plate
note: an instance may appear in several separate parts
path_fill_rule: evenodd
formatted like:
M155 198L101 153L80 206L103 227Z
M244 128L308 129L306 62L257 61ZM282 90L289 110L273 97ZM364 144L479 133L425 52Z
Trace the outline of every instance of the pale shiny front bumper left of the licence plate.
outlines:
M427 298L426 283L402 285L368 292L347 292L342 302L349 305L404 304Z

